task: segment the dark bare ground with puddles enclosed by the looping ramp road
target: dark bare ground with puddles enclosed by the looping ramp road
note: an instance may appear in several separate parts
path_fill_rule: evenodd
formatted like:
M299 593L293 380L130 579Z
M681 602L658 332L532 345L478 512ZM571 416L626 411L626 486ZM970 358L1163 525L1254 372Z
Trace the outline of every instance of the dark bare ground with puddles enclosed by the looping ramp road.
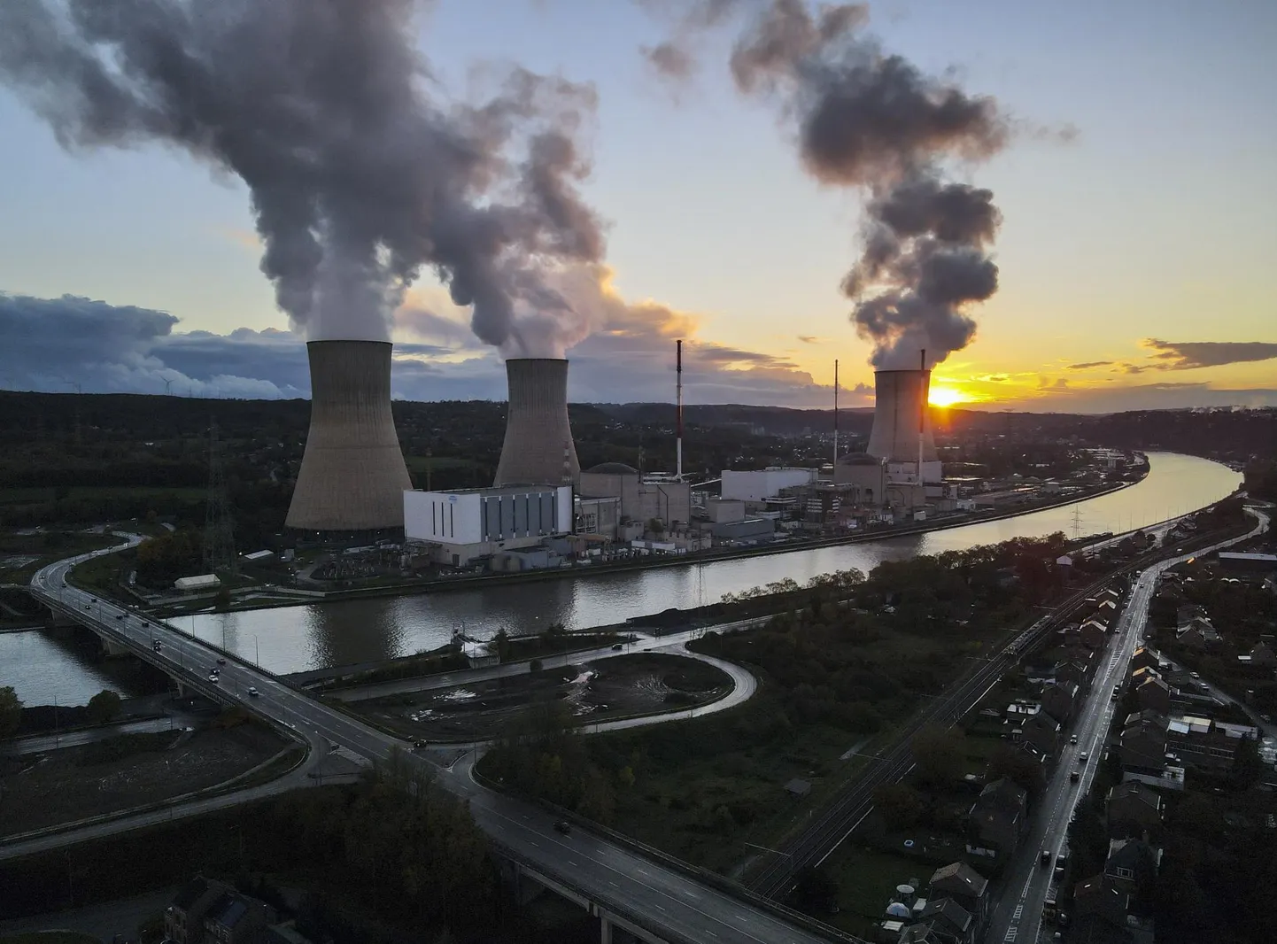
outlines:
M645 653L388 695L347 708L414 740L467 741L495 736L504 722L538 699L562 700L584 723L700 705L730 689L730 676L700 659Z

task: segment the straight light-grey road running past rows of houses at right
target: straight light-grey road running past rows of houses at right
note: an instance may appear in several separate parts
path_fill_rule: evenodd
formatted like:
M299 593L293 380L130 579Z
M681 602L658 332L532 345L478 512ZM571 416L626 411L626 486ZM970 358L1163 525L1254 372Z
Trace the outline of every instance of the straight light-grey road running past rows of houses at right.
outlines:
M1094 780L1096 766L1101 763L1108 727L1119 701L1111 695L1116 686L1128 677L1130 658L1139 645L1144 626L1148 622L1148 605L1157 590L1162 572L1190 557L1199 557L1212 551L1236 544L1268 529L1268 516L1255 512L1259 519L1254 530L1240 538L1221 542L1209 548L1194 551L1183 557L1160 561L1147 567L1135 580L1126 605L1117 620L1117 628L1108 643L1106 659L1096 669L1091 689L1082 709L1074 715L1073 731L1077 746L1066 745L1060 752L1060 763L1038 805L1033 825L1020 848L1011 857L1006 870L1006 880L999 893L990 915L988 941L1013 944L1016 940L1038 936L1042 920L1042 903L1052 890L1055 860L1064 849L1069 833L1069 818L1078 800L1085 796ZM1085 763L1080 760L1085 752ZM1070 783L1069 774L1080 772L1080 782ZM1045 869L1039 862L1042 849L1051 853L1052 867ZM1041 929L1046 930L1046 929Z

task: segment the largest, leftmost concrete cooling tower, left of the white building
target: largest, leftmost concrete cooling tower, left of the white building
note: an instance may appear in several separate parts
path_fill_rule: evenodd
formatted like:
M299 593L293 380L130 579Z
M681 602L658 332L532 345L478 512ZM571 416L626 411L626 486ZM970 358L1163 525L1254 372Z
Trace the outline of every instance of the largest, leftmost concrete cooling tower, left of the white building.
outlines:
M412 482L391 415L391 345L312 341L310 432L285 526L303 531L404 528Z

